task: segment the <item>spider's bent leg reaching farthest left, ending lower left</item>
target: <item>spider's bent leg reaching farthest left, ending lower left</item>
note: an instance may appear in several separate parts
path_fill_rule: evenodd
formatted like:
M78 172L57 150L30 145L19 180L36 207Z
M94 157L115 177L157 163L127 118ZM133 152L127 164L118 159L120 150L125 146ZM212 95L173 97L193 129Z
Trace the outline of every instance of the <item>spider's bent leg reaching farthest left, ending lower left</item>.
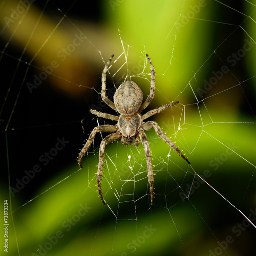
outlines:
M117 127L114 126L114 125L110 125L110 124L99 125L99 126L96 126L93 129L93 131L91 132L91 134L89 136L89 139L87 140L86 144L83 146L82 150L79 153L78 164L79 164L80 168L82 168L82 164L81 164L82 158L87 153L88 148L92 144L96 133L99 133L99 132L112 132L113 133L113 132L116 132L116 131L117 131Z

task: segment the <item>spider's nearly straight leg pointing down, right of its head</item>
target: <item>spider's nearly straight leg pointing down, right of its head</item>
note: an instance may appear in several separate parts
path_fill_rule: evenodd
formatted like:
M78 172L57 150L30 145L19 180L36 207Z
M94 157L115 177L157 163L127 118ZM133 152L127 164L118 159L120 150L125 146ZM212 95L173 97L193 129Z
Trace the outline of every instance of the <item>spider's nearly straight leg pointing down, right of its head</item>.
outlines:
M144 131L139 132L140 140L144 146L145 157L146 157L146 165L147 165L147 176L148 183L150 183L150 194L151 194L151 204L153 204L154 198L154 173L152 169L152 161L151 161L151 151L150 151L150 143L148 142L147 136Z

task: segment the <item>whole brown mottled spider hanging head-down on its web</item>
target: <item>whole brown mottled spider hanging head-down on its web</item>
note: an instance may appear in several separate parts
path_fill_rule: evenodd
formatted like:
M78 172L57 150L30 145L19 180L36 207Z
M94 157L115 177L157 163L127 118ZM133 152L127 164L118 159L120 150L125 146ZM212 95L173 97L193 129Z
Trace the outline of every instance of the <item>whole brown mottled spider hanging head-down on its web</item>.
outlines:
M113 58L114 54L111 55L108 62L103 69L101 76L101 98L102 100L108 104L112 109L117 111L120 116L115 116L107 113L102 113L96 110L90 110L90 112L98 117L103 117L106 119L110 119L113 121L117 121L116 125L99 125L96 126L91 132L89 139L86 144L82 148L79 156L78 156L78 164L80 168L82 168L81 161L88 148L92 144L96 133L101 132L110 132L111 134L106 136L100 143L99 147L99 164L98 164L98 172L97 172L97 186L100 200L103 204L105 204L101 191L101 176L102 176L102 168L104 163L104 151L105 146L110 142L113 142L121 137L121 143L124 145L130 145L134 143L134 145L139 144L139 139L141 140L146 157L146 165L147 165L147 176L148 182L150 184L150 194L151 194L151 204L153 204L154 198L154 173L152 169L152 161L151 161L151 150L150 144L148 142L147 136L145 134L145 130L150 130L152 127L155 129L158 136L160 136L174 151L176 151L188 164L190 162L187 158L182 154L179 148L172 142L160 129L159 125L155 121L147 121L143 122L143 120L151 117L157 113L160 113L163 110L168 109L170 106L176 105L179 101L172 102L159 108L148 111L144 115L140 115L141 111L143 111L148 104L152 101L155 95L155 69L152 64L150 57L146 54L147 60L150 63L151 67L151 88L150 94L147 96L145 102L142 104L143 93L139 86L134 81L125 81L123 82L119 88L116 90L114 94L114 103L106 96L106 72L108 71L110 62Z

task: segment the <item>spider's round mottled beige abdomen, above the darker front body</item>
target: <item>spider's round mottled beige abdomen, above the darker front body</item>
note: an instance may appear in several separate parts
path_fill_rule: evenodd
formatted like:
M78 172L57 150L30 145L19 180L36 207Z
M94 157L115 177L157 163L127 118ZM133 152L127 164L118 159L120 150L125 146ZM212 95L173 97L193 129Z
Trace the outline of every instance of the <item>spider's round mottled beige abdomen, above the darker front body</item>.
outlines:
M134 115L140 108L143 93L134 81L125 81L119 86L114 95L117 111L123 115Z

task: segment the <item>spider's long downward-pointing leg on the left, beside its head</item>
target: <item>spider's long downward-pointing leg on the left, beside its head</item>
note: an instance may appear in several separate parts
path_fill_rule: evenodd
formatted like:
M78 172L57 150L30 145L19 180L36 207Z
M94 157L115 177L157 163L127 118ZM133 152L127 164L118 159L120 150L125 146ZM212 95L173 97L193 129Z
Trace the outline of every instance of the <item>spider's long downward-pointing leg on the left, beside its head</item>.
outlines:
M99 197L103 204L105 204L103 197L102 197L102 191L101 191L101 176L102 176L102 169L103 169L103 163L104 163L104 153L105 153L105 146L108 145L110 142L117 140L121 137L120 133L112 133L108 136L106 136L100 143L99 147L99 165L98 165L98 172L97 172L97 185L98 185L98 191L99 191Z

